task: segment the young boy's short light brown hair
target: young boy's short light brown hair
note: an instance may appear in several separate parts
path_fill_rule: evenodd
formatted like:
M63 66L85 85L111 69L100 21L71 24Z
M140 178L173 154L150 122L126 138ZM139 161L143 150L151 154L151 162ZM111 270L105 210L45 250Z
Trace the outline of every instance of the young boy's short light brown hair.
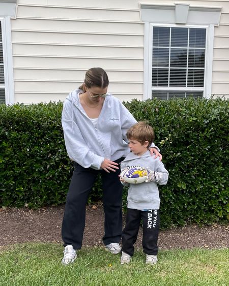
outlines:
M154 142L154 130L148 124L147 121L139 121L138 123L134 124L128 131L127 131L127 138L129 140L137 140L138 142L143 145L145 141L149 142L148 147Z

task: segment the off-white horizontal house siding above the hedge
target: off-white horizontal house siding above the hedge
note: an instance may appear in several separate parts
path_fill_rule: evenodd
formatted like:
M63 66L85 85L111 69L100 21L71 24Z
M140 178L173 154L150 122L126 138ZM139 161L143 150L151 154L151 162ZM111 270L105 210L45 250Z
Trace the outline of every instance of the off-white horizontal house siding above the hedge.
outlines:
M107 71L109 91L119 99L141 100L144 24L138 2L19 0L17 18L11 20L15 102L64 100L91 67ZM229 2L188 3L223 7L220 25L215 27L212 92L228 96Z

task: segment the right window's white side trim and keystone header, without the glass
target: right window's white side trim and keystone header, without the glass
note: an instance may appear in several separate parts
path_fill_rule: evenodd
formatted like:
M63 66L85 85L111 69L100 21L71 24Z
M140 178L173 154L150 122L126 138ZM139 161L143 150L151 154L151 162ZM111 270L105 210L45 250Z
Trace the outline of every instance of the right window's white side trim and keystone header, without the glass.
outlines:
M219 26L222 13L221 6L195 6L189 3L174 4L145 4L138 3L140 22L145 26L144 33L144 94L143 99L150 99L149 93L149 71L151 69L149 60L151 55L149 49L152 48L150 42L150 25L158 26L187 26L204 27L207 29L206 38L206 67L205 67L205 98L210 98L212 93L212 67L214 48L214 27ZM152 59L151 59L152 60ZM151 74L151 72L150 72ZM151 90L151 89L150 89Z

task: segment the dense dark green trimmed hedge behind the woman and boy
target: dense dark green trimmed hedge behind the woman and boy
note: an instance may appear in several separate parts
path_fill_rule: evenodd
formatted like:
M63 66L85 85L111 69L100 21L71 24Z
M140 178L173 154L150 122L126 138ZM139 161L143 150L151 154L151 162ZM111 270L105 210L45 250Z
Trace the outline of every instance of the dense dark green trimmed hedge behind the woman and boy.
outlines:
M228 218L228 103L192 98L124 103L137 120L154 127L169 171L167 185L160 186L162 226ZM65 202L73 169L64 146L62 107L61 102L0 105L1 206ZM98 180L90 200L101 195Z

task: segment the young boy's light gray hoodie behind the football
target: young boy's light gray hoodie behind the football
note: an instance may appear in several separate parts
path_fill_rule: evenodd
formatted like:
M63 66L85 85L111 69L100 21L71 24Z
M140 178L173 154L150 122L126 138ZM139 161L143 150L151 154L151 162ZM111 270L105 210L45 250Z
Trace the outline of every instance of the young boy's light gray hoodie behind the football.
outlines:
M132 152L129 153L121 163L121 172L131 166L140 166L151 171L161 172L162 177L157 183L127 184L122 182L123 185L129 186L127 207L138 210L159 209L160 198L157 184L166 185L168 180L168 171L164 168L164 164L159 160L159 157L155 159L151 156L148 150L142 156L135 155Z

